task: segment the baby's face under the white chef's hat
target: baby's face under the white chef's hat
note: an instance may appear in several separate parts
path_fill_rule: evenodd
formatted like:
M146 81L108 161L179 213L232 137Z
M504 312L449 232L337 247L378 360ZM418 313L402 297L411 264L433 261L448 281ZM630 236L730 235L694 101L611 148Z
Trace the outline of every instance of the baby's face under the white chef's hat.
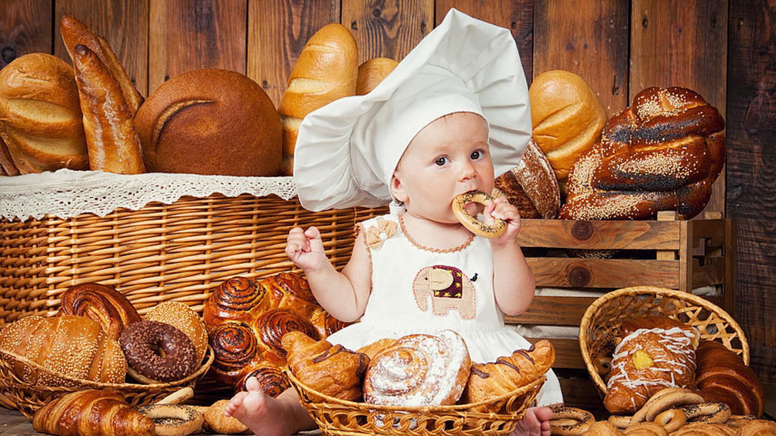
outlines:
M457 223L452 199L494 187L487 122L456 112L425 126L404 151L393 173L391 191L407 212L443 223Z

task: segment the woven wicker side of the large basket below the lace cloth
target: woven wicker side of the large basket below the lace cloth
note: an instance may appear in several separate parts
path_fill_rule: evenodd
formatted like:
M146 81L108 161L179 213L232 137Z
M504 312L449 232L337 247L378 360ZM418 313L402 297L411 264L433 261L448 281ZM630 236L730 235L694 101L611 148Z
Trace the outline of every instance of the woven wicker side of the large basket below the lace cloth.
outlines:
M283 252L293 227L317 226L327 257L341 267L350 257L355 223L383 213L312 213L296 199L213 195L102 218L0 220L0 325L51 316L68 287L92 282L115 287L141 315L162 301L181 301L201 313L210 289L225 279L294 270Z

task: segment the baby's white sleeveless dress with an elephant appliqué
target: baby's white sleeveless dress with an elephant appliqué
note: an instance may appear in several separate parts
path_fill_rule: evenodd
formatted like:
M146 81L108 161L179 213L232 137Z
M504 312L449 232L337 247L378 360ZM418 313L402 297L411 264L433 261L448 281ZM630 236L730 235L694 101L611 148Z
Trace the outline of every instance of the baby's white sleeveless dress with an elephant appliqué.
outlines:
M495 362L531 343L504 325L493 290L490 242L473 236L450 250L421 247L404 232L400 215L359 224L372 260L372 292L361 321L327 337L356 350L383 337L456 330L473 362ZM370 237L371 234L371 237ZM539 405L562 403L552 370Z

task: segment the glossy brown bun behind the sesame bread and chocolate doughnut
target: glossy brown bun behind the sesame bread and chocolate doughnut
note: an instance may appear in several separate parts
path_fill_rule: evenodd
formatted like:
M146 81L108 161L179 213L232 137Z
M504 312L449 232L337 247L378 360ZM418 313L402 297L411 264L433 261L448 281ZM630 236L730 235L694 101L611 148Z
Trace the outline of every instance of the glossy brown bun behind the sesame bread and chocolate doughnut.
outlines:
M71 286L62 294L59 314L91 318L112 340L119 339L124 327L140 321L140 315L126 296L97 283Z

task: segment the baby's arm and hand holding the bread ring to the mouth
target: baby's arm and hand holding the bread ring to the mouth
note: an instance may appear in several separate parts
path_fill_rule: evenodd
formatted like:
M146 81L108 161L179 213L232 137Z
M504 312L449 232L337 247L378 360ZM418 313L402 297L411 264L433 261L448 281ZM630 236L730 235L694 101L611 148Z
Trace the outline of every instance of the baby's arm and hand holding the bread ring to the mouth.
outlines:
M533 272L516 239L521 229L520 213L501 197L486 206L484 215L486 222L490 216L507 222L504 234L490 240L493 251L493 287L499 310L507 315L518 315L528 309L536 286Z

